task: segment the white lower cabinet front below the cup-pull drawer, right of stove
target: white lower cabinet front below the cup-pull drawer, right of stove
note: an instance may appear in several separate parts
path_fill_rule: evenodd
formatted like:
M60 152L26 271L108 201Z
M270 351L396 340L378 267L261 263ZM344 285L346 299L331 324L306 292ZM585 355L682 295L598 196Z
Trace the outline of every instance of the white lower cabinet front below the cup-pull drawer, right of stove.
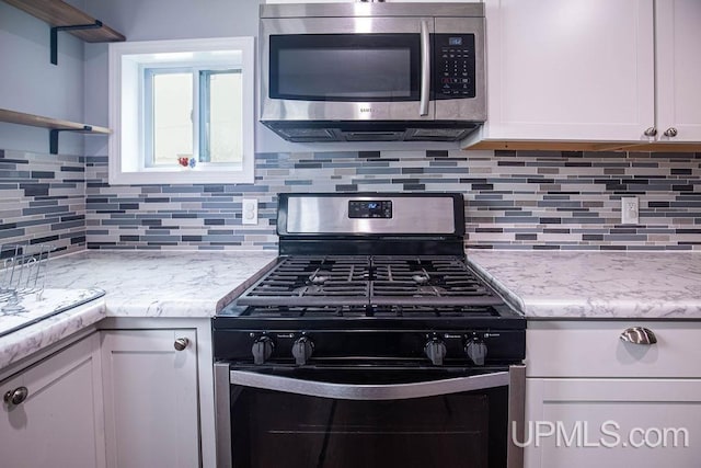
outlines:
M701 380L527 379L526 392L526 468L699 466Z

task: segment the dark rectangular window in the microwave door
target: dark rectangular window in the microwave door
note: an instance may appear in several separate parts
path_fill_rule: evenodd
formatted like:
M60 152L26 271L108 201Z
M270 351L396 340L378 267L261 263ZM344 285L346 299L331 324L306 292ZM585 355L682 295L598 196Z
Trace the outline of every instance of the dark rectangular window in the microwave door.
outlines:
M304 101L417 101L416 34L273 35L269 93Z

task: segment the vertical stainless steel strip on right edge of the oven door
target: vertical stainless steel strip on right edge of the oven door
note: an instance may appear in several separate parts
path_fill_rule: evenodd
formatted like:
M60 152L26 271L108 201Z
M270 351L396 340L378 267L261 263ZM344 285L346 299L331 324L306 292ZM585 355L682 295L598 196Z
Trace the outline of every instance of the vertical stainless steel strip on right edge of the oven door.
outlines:
M526 431L526 366L509 367L508 381L508 443L506 467L524 468L524 447L515 441L525 441Z

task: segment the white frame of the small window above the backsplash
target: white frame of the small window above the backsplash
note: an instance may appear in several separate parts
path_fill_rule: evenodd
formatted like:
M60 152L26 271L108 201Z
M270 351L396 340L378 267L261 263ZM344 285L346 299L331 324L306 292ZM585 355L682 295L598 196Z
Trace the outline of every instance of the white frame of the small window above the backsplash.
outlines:
M232 64L232 53L239 64ZM113 130L108 144L111 185L254 183L253 37L112 43L108 60L110 127ZM143 69L153 64L211 68L234 65L241 68L243 160L240 165L198 163L195 168L147 167Z

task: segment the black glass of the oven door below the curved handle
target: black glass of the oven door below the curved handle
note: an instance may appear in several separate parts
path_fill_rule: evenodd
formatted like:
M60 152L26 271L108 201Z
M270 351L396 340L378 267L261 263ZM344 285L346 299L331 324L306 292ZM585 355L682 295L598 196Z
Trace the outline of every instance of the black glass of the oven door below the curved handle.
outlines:
M233 393L234 468L506 465L505 388L392 401Z

